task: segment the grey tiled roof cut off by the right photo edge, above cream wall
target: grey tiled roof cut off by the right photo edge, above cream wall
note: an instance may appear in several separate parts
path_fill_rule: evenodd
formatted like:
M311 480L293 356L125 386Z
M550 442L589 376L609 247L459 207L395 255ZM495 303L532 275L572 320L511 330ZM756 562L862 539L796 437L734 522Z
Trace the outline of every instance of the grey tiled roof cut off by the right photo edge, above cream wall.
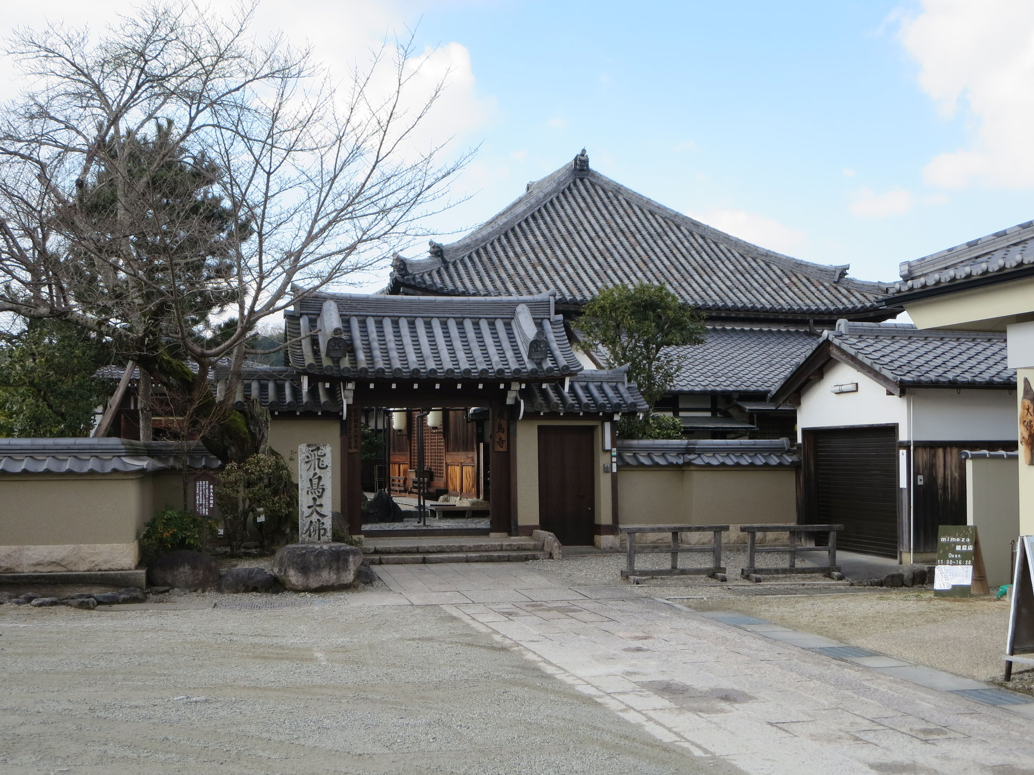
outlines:
M939 285L966 284L982 277L1027 270L1034 273L1034 221L971 240L901 265L892 293L913 293Z

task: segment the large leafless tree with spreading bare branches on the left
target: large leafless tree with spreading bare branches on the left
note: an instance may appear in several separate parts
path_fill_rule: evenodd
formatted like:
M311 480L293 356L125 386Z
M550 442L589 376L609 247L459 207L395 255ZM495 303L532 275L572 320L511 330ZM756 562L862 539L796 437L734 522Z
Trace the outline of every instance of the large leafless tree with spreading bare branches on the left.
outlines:
M445 83L410 106L412 36L339 87L308 50L255 42L252 11L153 3L99 36L20 30L7 53L31 86L0 115L0 312L110 337L213 414L256 327L423 234L469 157L420 148ZM223 442L224 459L253 446Z

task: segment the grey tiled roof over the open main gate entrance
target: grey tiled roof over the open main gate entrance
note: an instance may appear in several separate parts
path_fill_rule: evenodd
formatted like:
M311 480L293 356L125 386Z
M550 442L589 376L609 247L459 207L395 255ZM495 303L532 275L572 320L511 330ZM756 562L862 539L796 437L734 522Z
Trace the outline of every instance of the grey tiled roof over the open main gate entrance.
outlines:
M288 339L300 339L291 364L310 374L384 379L575 374L582 366L553 299L312 292L284 315Z

